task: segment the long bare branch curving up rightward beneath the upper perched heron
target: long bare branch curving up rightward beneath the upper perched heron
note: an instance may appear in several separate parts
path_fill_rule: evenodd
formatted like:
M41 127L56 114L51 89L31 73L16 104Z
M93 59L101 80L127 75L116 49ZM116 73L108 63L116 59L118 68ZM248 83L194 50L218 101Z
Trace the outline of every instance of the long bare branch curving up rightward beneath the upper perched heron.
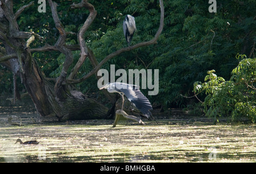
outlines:
M92 76L94 73L96 73L100 69L100 67L102 65L104 65L104 63L106 63L111 58L113 58L115 56L118 56L121 53L128 52L130 50L134 50L134 49L140 48L142 46L148 46L148 45L156 44L160 34L163 31L163 27L164 27L164 5L163 5L163 0L159 0L159 3L160 3L160 10L161 10L160 26L158 28L158 31L155 34L154 39L152 39L150 41L143 42L143 43L139 43L139 44L136 44L136 45L133 45L133 46L129 46L129 47L126 47L126 48L122 48L122 49L119 49L119 50L117 50L116 52L114 52L112 54L109 54L108 56L106 56L104 58L104 60L102 60L100 63L98 63L98 65L96 67L94 67L94 69L92 71L90 71L88 74L86 74L84 77L82 77L80 79L77 79L77 80L67 80L66 84L77 84L77 83L83 82L85 79L88 79L90 76Z

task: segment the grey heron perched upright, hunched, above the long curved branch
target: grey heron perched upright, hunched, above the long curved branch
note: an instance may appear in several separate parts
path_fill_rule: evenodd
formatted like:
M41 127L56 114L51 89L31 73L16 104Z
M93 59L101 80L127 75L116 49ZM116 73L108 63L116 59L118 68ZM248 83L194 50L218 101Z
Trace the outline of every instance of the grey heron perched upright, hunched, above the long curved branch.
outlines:
M125 39L129 46L133 39L135 30L135 18L131 15L126 15L125 20L123 20L123 33L125 34Z

